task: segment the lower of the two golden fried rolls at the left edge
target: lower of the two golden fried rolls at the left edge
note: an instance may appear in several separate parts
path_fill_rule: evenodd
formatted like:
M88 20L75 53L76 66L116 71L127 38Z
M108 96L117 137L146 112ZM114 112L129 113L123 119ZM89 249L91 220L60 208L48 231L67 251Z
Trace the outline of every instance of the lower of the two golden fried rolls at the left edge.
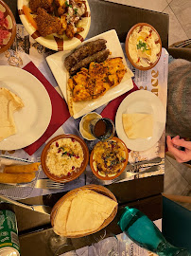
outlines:
M27 183L35 178L35 173L30 174L4 174L0 173L0 183Z

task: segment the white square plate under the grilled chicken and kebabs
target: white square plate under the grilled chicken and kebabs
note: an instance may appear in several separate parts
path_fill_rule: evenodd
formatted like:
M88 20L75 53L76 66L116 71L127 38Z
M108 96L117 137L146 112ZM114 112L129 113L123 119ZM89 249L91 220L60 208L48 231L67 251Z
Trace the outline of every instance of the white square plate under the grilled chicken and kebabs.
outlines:
M125 56L123 53L123 49L120 45L117 33L114 29L107 31L105 33L102 33L100 35L97 35L97 36L85 41L84 43L81 44L81 46L87 42L95 41L97 39L105 39L107 41L107 43L106 43L107 48L112 52L112 54L110 55L110 58L122 57L123 63L128 68L126 59L125 59ZM46 61L49 64L49 66L52 70L52 73L61 88L61 92L63 94L65 101L67 101L66 86L67 86L69 74L68 74L66 68L64 67L63 63L64 63L65 57L68 56L70 53L71 53L71 51L57 52L55 54L52 54L52 55L46 57ZM113 99L117 98L118 96L130 91L130 89L132 89L132 87L133 87L133 83L132 83L130 76L131 77L133 76L133 73L131 71L130 71L130 73L128 73L124 76L124 78L123 78L122 82L120 82L120 84L118 84L117 86L115 86L112 89L110 89L109 91L107 91L107 93L105 95L103 95L102 97L100 97L96 100L87 101L86 107L83 107L81 110L79 110L78 113L76 115L74 115L73 118L78 119L79 117L95 110L96 108L108 103L109 101L112 101Z

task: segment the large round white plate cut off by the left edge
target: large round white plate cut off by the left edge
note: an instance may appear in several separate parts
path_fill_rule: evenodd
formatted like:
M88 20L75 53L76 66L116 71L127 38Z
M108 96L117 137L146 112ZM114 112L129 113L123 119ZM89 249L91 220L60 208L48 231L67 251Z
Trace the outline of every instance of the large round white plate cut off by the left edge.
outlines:
M17 133L0 141L0 150L24 148L45 132L52 115L52 105L43 84L25 70L1 65L0 87L18 95L25 106L14 113Z

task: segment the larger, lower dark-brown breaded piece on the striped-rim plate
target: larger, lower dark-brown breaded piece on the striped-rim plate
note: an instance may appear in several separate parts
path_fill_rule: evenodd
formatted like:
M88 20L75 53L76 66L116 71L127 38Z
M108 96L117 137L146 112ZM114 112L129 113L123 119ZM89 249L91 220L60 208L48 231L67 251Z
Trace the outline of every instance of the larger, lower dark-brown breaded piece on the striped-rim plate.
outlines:
M37 10L37 17L35 20L40 34L44 37L53 33L62 33L60 19L48 14L44 9L39 8Z

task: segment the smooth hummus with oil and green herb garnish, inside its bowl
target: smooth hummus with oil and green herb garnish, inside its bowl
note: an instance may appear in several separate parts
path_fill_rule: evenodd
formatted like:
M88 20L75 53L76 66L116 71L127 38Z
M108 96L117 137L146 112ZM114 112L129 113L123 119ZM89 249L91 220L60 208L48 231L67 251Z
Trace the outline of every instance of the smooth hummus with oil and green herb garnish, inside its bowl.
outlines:
M148 67L159 58L159 36L151 27L135 27L130 34L128 49L134 64Z

